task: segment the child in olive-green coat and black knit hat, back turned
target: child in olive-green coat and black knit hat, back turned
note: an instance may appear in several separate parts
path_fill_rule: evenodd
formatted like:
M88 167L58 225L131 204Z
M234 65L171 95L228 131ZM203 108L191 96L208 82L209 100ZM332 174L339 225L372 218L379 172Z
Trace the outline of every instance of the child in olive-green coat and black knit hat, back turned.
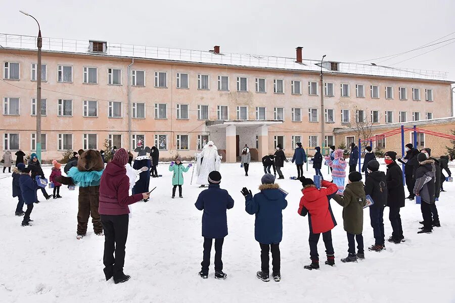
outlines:
M351 172L349 181L343 196L335 195L333 198L343 207L343 225L347 233L349 255L341 259L341 262L357 262L358 259L365 259L363 251L363 207L367 204L365 189L363 189L362 175L359 172ZM355 254L355 240L357 241L357 254Z

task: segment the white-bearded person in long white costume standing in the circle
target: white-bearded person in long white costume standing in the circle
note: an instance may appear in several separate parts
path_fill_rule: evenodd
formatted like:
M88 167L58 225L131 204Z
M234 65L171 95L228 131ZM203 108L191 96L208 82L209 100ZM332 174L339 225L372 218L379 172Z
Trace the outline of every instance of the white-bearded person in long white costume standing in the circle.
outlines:
M219 171L221 164L221 156L218 155L218 148L214 145L213 141L208 141L202 148L201 153L195 154L196 156L196 184L199 187L208 185L208 174L212 171Z

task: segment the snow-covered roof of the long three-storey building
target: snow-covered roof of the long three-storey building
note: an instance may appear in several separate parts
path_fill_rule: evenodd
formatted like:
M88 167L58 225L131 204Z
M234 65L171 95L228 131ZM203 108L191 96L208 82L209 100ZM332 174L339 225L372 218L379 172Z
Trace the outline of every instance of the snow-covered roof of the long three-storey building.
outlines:
M222 66L279 69L299 72L319 72L320 60L303 59L297 63L295 58L262 56L250 54L220 53L212 51L197 51L194 49L167 48L144 45L130 45L107 42L106 53L90 52L89 41L62 38L42 38L42 51L53 53L84 54L93 56L112 56L123 58L150 59L182 63L199 63ZM96 40L101 41L101 40ZM0 33L0 43L3 48L37 49L36 37ZM335 61L334 61L335 62ZM330 64L323 65L323 71L331 74L352 74L366 76L397 77L408 79L425 79L447 81L448 73L419 69L403 69L387 66L359 63L338 63L338 70L330 69Z

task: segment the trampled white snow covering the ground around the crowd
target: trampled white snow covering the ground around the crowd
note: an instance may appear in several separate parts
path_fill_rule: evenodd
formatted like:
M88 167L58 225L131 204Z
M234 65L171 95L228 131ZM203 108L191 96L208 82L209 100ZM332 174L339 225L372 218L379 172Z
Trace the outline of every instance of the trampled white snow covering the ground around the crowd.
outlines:
M381 170L385 169L382 163ZM279 180L289 191L280 245L282 280L265 283L255 276L260 270L260 249L254 240L254 216L245 212L240 193L243 186L257 192L261 163L250 165L249 177L240 164L221 165L221 187L235 199L228 211L229 235L223 246L226 280L214 279L213 264L209 279L197 276L202 261L202 212L194 203L201 189L190 185L192 170L185 174L183 199L170 198L167 165L159 165L158 171L163 177L151 179L150 188L157 186L151 200L133 205L124 268L131 279L118 285L104 279L104 237L96 236L89 222L87 236L76 239L77 188L62 187L63 198L49 201L38 191L41 203L33 209L33 226L21 227L22 218L14 216L12 179L0 174L0 302L455 302L453 183L444 183L447 192L437 203L441 228L418 235L420 206L406 200L401 209L406 242L386 242L387 250L379 253L366 250L366 259L353 264L340 262L347 255L347 239L342 208L332 201L338 222L332 231L336 266L322 264L320 270L308 271L303 269L309 263L308 221L297 214L302 186L298 181ZM44 172L49 176L50 168ZM295 175L295 166L288 163L283 172L289 178ZM323 173L328 175L327 167ZM312 177L313 170L305 175ZM368 210L364 216L368 247L374 243ZM388 209L384 220L388 238ZM324 261L322 239L319 251ZM212 262L213 256L212 248Z

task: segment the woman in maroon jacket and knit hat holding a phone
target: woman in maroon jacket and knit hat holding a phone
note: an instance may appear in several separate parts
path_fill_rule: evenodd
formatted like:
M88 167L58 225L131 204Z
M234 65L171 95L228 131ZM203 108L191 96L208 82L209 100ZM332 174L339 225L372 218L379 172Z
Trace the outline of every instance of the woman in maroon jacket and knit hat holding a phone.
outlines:
M118 149L112 161L107 164L100 183L99 213L105 236L104 274L106 281L113 276L115 284L126 282L130 278L123 273L128 235L128 205L148 199L150 195L148 192L129 195L129 178L125 168L127 163L127 151L124 148Z

